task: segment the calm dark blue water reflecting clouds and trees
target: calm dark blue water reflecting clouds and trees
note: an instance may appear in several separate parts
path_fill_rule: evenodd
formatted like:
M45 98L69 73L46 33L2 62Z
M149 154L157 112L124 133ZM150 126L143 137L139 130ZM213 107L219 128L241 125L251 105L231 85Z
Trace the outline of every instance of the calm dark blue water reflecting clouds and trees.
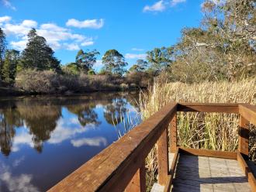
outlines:
M140 122L136 99L136 93L0 99L0 191L52 187L116 141L124 121Z

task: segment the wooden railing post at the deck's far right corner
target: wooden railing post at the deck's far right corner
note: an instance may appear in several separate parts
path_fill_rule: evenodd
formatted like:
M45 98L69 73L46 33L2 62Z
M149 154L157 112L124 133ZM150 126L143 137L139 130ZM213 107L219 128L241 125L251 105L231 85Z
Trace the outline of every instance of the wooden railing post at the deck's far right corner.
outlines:
M239 122L239 143L238 143L238 151L245 157L248 157L249 154L249 122L240 115Z

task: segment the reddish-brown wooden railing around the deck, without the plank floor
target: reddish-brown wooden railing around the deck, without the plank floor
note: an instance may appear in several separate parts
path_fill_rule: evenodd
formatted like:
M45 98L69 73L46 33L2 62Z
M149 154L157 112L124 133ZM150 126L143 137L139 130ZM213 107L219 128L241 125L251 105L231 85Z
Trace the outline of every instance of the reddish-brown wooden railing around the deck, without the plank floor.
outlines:
M240 114L238 152L185 149L177 146L177 111ZM171 187L178 153L185 150L201 156L237 159L251 185L254 175L244 159L248 156L248 124L256 125L256 107L247 104L171 103L94 156L49 191L145 191L145 158L157 143L158 183ZM168 134L168 132L170 134ZM170 135L170 139L168 139ZM170 143L168 143L170 142ZM170 148L168 148L170 146ZM175 153L169 170L168 153Z

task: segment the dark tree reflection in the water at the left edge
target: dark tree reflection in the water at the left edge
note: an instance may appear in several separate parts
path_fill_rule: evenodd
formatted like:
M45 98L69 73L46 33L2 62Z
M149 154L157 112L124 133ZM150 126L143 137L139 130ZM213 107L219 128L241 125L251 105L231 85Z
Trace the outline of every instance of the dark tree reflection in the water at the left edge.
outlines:
M15 128L22 126L22 118L16 108L4 108L0 110L0 146L5 156L9 156L12 149L12 138Z

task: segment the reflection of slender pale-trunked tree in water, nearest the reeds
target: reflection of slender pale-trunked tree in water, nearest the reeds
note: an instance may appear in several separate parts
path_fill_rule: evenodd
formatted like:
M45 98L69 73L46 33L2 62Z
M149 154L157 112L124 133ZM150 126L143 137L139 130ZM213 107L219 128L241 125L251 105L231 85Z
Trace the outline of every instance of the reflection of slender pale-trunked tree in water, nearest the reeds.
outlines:
M105 106L104 118L111 125L118 125L127 111L127 102L123 98L115 98Z

